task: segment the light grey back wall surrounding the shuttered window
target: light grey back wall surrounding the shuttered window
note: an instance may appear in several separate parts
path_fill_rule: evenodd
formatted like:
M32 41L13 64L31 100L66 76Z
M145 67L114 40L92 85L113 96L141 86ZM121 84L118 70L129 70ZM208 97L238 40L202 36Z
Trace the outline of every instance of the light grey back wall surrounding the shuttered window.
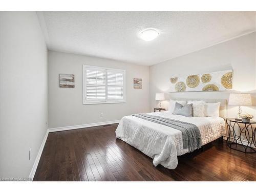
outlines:
M82 66L126 70L126 102L82 104ZM75 75L75 88L59 88L60 73ZM133 88L133 78L142 78L142 89ZM83 55L48 52L49 128L120 120L125 115L149 109L149 67ZM103 117L100 117L103 113Z

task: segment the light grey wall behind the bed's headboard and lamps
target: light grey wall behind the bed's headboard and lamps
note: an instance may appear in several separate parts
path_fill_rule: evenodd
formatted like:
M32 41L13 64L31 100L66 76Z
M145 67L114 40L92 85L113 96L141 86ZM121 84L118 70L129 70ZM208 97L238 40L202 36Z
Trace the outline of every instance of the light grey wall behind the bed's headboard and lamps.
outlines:
M185 45L184 45L185 46ZM169 98L227 99L230 92L182 92L169 93L170 77L201 74L233 69L233 89L255 90L255 32L231 39L181 57L170 59L150 67L150 106L154 108L155 93L166 93L164 106ZM254 91L252 91L254 93ZM253 95L254 96L254 95ZM255 107L242 107L244 112L255 114ZM238 108L228 106L227 116L236 117Z

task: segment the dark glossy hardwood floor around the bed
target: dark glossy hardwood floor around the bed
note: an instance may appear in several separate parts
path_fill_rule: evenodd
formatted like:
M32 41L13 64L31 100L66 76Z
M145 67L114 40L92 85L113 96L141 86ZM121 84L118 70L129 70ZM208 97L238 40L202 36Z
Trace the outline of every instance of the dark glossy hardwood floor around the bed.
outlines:
M117 124L49 133L34 181L256 181L256 154L214 141L178 157L176 169L116 139Z

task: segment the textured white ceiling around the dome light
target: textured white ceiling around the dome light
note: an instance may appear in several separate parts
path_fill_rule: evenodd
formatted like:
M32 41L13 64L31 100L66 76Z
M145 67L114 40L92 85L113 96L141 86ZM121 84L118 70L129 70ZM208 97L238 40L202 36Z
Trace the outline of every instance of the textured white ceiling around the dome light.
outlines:
M153 65L255 31L248 11L38 12L50 50ZM153 41L138 37L157 28Z

